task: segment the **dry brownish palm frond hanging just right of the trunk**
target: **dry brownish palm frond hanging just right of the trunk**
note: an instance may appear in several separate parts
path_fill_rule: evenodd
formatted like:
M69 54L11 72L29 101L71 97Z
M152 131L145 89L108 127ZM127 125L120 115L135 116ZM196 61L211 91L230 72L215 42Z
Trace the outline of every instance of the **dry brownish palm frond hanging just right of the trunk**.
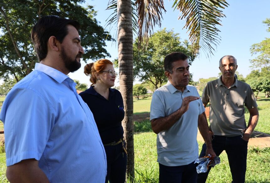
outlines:
M138 42L148 43L148 34L152 34L155 25L161 27L162 10L165 10L163 0L136 0L138 7ZM140 44L138 44L140 45Z

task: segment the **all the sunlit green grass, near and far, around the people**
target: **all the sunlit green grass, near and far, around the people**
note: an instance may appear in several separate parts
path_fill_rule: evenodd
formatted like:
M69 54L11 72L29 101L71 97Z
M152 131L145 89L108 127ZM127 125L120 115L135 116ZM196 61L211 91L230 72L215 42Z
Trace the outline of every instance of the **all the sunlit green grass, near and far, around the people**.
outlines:
M200 93L201 94L201 93ZM260 113L259 122L255 130L270 134L270 98L265 99L259 94L257 100ZM150 112L151 97L146 99L134 99L134 114ZM246 112L246 120L249 114ZM2 125L2 126L1 126ZM3 127L1 123L0 128ZM136 183L157 183L159 169L156 152L156 134L151 130L149 120L134 123L134 151L135 151L135 182ZM143 131L143 132L142 132ZM202 142L199 143L199 151ZM227 155L223 152L220 155L221 163L215 166L209 176L208 183L230 183L231 173ZM270 148L248 150L246 183L270 183ZM5 176L5 153L0 153L0 182L8 182Z

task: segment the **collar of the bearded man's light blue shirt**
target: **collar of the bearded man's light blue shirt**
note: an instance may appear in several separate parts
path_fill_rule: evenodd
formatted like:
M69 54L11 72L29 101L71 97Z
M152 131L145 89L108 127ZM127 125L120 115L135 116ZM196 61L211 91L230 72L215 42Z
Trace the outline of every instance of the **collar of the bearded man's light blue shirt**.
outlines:
M60 72L59 70L40 63L35 64L35 70L47 74L58 83L62 83L65 79L69 78L66 74Z

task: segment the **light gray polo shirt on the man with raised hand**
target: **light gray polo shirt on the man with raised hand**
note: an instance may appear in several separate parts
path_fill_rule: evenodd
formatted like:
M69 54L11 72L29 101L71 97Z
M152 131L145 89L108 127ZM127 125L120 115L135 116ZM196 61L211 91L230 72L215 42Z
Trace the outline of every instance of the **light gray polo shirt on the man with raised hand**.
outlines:
M153 94L150 120L169 116L178 110L187 96L200 96L194 86L177 90L171 83L162 86ZM201 99L189 103L188 110L170 129L157 135L158 162L166 166L181 166L198 158L198 116L205 111Z

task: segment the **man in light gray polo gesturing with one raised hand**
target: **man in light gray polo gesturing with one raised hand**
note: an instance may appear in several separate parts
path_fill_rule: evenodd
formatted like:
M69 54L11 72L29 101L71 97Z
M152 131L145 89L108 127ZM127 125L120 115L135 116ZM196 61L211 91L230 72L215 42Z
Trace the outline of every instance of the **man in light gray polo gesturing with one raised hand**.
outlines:
M157 135L160 183L195 183L198 158L197 127L207 153L215 156L208 133L205 109L197 89L188 85L187 56L173 52L164 59L169 81L153 94L150 120Z

